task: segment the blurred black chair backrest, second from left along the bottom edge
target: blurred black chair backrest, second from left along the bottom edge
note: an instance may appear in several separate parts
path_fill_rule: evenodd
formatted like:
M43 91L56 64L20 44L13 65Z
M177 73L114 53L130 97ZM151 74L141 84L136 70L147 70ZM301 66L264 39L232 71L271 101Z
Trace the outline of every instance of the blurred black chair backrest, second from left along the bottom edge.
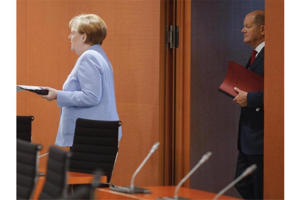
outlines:
M46 180L39 199L58 199L67 194L66 173L70 152L55 146L49 148Z

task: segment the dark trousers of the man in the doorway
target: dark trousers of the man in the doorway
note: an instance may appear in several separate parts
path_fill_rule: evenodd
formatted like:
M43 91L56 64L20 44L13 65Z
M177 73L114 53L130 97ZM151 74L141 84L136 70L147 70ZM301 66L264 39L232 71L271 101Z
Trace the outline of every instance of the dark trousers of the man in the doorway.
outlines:
M239 181L235 188L244 199L263 199L263 155L247 155L239 151L235 178L252 164L256 164L257 169Z

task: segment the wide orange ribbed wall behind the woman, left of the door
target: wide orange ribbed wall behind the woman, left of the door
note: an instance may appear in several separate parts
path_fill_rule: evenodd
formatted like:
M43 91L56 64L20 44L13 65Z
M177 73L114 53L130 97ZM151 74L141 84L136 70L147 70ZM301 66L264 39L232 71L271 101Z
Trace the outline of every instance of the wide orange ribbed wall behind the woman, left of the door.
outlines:
M61 89L78 56L70 50L69 20L95 13L107 24L102 45L115 78L123 137L112 182L129 185L135 169L159 141L160 1L17 1L17 84ZM17 93L17 115L33 115L33 142L53 145L60 109L29 92ZM66 148L67 149L67 148ZM156 151L135 185L158 185ZM45 167L46 158L40 159Z

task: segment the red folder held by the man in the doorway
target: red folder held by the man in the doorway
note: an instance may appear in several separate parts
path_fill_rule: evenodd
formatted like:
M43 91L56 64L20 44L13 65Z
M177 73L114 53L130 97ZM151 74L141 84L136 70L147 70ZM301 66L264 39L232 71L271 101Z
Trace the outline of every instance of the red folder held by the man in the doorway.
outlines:
M246 92L263 90L263 76L256 74L236 62L229 61L224 82L219 86L219 91L231 98L237 96L234 87Z

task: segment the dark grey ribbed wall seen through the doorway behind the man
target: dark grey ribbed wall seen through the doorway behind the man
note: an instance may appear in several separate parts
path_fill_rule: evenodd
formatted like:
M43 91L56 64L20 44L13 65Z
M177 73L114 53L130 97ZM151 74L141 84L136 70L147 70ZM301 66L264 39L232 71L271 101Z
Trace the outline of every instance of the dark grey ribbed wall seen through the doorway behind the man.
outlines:
M234 179L240 106L218 91L232 60L246 65L252 47L243 42L244 17L264 1L191 2L190 168L213 155L190 178L190 187L217 193ZM235 188L227 193L240 197Z

